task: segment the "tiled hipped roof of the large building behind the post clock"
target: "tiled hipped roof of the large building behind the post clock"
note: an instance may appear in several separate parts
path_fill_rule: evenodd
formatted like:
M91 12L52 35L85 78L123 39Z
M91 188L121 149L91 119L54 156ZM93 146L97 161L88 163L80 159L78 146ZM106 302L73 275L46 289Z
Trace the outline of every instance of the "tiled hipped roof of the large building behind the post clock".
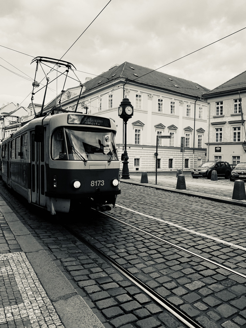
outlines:
M153 72L153 70L150 68L125 62L87 81L84 84L85 92L95 89L96 87L110 81L113 83L113 80L118 79L119 77L127 78L129 81L136 80L138 83L150 85L163 90L169 90L199 97L203 93L209 91L209 89L202 87L198 83L158 71Z

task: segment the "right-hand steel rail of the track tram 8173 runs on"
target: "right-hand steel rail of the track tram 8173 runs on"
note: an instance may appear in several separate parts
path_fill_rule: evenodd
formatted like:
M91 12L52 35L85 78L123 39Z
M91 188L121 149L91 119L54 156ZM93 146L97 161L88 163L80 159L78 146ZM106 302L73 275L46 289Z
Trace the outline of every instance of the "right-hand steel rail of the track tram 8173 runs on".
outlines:
M195 257L197 257L197 258L200 258L201 260L203 260L203 261L205 261L205 262L211 263L211 264L217 266L218 268L224 269L224 270L230 272L230 273L233 274L233 275L236 275L236 276L239 276L239 277L241 277L241 278L246 279L246 275L244 275L244 274L242 274L242 273L240 273L240 272L234 271L234 270L232 270L231 268L226 267L226 266L224 266L224 265L222 265L222 264L220 264L220 263L217 263L217 262L215 262L215 261L213 261L213 260L210 260L209 258L203 257L203 256L201 256L201 255L199 255L199 254L196 254L196 253L194 253L194 252L192 252L192 251L189 251L189 250L187 250L187 249L185 249L185 248L183 248L183 247L180 247L180 246L178 246L178 245L175 245L175 244L171 243L170 241L167 241L167 240L164 240L164 239L162 239L162 238L160 238L160 237L154 236L154 235L152 235L151 233L149 233L149 232L147 232L147 231L144 231L144 230L142 230L142 229L140 229L140 228L134 227L133 225L131 225L131 224L127 223L127 222L121 221L121 220L117 219L116 217L113 217L113 216L111 216L111 215L109 215L109 214L106 214L105 212L99 212L99 213L101 213L102 215L108 216L108 217L110 217L111 219L113 219L113 220L115 220L115 221L118 221L118 222L120 222L120 223L122 223L122 224L124 224L124 225L127 225L127 226L131 227L132 229L135 229L135 230L137 230L137 231L139 231L139 232L141 232L141 233L143 233L143 234L145 234L145 235L151 236L152 238L154 238L154 239L156 239L156 240L158 240L158 241L161 241L161 242L163 242L164 244L170 245L170 246L172 246L172 247L174 247L174 248L176 248L176 249L178 249L178 250L180 250L180 251L182 251L182 252L185 252L185 253L187 253L187 254L189 254L189 255L192 255L192 256L195 256Z

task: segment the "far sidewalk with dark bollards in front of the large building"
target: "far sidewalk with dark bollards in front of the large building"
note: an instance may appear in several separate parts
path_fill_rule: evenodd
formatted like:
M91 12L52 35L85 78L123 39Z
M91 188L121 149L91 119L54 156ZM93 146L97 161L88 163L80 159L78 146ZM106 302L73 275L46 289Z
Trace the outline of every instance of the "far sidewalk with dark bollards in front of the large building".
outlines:
M221 203L246 206L246 200L232 199L234 182L231 182L229 179L219 177L218 181L211 181L206 178L193 179L190 172L184 172L183 174L185 176L186 190L176 189L176 172L158 172L157 184L155 184L156 176L153 172L147 173L148 183L141 183L142 173L130 173L130 179L121 179L120 182L157 188Z

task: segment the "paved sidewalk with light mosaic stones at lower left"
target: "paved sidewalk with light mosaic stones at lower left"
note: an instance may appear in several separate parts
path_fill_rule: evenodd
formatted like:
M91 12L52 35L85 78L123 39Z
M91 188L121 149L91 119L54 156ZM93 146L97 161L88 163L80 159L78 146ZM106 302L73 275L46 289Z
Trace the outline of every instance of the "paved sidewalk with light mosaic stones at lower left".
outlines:
M104 328L0 196L0 327Z

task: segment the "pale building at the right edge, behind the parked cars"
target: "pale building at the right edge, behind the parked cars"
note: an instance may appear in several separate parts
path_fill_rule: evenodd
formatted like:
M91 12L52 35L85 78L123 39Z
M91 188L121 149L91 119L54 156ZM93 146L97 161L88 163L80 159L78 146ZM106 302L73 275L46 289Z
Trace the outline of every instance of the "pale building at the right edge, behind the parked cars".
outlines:
M246 113L246 71L205 93L208 101L208 160L232 165L246 162L242 147L246 139L243 111Z

